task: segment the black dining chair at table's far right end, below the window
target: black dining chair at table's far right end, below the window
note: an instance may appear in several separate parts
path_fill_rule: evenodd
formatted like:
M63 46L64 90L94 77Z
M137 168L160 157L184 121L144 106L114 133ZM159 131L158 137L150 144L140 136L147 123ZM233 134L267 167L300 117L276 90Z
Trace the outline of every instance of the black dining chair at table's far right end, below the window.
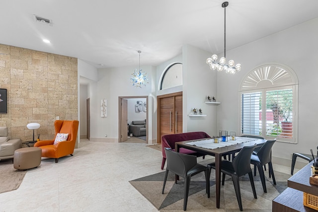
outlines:
M259 151L256 154L252 154L250 158L250 163L257 166L259 176L262 181L263 190L265 193L267 193L267 190L266 190L266 182L265 182L263 165L265 165L266 163L268 163L268 172L271 173L273 178L273 183L274 185L276 185L276 180L275 180L275 175L274 175L273 165L272 165L272 157L271 157L272 146L274 145L275 141L276 139L266 141L261 146Z

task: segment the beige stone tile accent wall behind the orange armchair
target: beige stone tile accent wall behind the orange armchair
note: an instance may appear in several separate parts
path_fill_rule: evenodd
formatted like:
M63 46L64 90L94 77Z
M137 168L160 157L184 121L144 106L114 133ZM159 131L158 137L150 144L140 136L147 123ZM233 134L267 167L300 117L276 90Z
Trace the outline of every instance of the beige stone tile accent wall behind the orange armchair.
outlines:
M57 116L78 120L77 58L0 44L0 88L7 89L0 126L10 138L32 141L26 125L36 122L40 139L53 139Z

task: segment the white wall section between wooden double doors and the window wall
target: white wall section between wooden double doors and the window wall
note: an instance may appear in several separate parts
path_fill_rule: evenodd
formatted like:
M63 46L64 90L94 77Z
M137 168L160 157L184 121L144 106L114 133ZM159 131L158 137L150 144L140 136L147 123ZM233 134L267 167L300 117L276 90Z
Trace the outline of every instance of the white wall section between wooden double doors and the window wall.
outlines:
M211 137L217 134L217 108L206 104L208 95L217 94L217 74L210 70L206 59L211 53L184 45L183 55L183 131L203 131ZM189 117L193 108L202 109L206 117ZM199 114L199 112L198 112Z

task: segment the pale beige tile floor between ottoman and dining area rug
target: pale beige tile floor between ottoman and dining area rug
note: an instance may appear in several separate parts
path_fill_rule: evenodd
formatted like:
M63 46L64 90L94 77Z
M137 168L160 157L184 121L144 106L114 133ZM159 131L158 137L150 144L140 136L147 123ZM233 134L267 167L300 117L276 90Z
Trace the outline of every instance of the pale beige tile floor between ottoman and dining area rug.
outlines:
M162 171L161 152L146 145L81 140L73 157L42 158L17 190L0 194L0 212L155 212L129 183Z

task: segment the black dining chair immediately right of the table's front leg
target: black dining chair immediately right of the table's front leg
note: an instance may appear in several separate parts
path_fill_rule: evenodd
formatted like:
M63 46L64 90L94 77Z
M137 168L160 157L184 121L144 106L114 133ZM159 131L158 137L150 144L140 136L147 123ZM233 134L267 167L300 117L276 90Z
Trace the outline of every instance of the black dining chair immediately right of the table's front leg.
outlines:
M222 160L221 161L221 172L222 172L222 185L224 185L225 175L230 175L233 180L235 193L237 195L239 210L243 211L242 199L240 195L239 187L239 177L248 173L250 185L252 187L254 198L257 199L256 190L253 180L252 170L250 168L250 157L255 146L244 146L238 153L238 155L233 159L233 161ZM211 174L211 168L215 169L215 163L210 163L207 165L209 169L209 178Z

